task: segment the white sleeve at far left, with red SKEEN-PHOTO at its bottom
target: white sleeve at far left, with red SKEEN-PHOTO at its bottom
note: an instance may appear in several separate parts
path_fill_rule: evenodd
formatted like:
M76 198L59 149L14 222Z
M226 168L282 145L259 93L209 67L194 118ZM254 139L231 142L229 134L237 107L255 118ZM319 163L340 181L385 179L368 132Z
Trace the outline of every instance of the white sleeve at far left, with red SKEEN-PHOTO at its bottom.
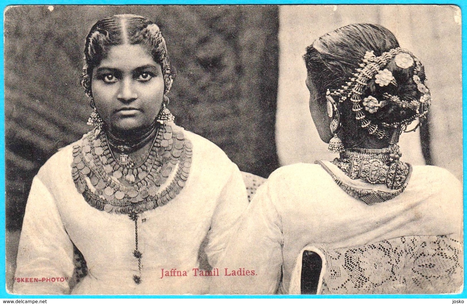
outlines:
M73 244L48 188L34 177L16 259L15 294L68 294Z

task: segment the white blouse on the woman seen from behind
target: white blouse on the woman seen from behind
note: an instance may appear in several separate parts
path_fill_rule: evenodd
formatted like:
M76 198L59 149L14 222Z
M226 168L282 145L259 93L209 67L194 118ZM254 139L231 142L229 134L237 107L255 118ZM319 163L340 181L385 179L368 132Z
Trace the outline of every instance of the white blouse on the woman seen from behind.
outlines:
M343 173L340 178L365 186ZM405 191L375 205L347 195L318 164L282 167L258 189L215 264L221 272L244 269L250 275L220 276L210 293L288 293L297 255L309 244L357 247L408 235L462 240L462 217L462 184L438 167L414 166Z

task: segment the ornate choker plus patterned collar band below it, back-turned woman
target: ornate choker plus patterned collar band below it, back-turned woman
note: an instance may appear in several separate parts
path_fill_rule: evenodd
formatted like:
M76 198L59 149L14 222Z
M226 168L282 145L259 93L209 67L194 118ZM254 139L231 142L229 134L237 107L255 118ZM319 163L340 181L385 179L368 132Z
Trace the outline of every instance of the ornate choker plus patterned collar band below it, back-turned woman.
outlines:
M402 193L410 178L411 166L399 160L399 146L392 144L388 148L366 149L349 148L333 160L347 177L361 179L369 184L385 184L388 191L375 190L370 187L361 189L346 184L337 177L324 163L319 163L333 177L334 181L349 194L368 205L373 205L394 198Z

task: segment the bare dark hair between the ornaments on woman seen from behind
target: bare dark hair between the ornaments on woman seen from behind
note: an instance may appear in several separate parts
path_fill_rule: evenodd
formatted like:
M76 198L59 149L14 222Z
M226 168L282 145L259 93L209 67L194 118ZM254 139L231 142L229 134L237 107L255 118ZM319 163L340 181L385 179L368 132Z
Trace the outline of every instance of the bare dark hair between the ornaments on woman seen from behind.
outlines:
M338 28L316 39L306 49L304 55L308 75L317 90L316 102L325 103L325 94L329 89L340 89L349 78L354 77L366 52L373 51L376 57L391 49L399 47L396 37L387 28L377 24L351 24ZM382 69L388 69L396 80L397 85L380 86L375 84L375 78L370 79L361 98L368 96L382 99L384 94L391 94L404 100L418 100L423 95L417 89L413 80L413 64L410 68L400 68L395 63L395 57L389 60ZM417 72L422 82L425 81L423 66ZM359 129L359 122L354 119L352 103L339 103L342 127ZM367 117L376 122L387 124L410 120L417 116L416 110L390 103L376 113L366 113Z

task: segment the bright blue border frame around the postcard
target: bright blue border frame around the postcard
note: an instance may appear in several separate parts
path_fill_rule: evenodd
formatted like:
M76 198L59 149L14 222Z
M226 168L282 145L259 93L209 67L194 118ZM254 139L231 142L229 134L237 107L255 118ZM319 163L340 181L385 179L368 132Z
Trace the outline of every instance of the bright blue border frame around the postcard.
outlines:
M456 5L461 9L461 18L462 18L462 92L467 92L467 1L463 2L462 0L0 0L1 3L1 12L4 12L5 8L9 5L228 5L228 4L272 4L272 5L297 5L297 4L328 4L328 5L344 5L344 4L375 4L375 5L388 5L388 4L445 4L445 5ZM4 14L1 17L0 23L0 32L3 33L3 20ZM0 51L3 54L3 39L0 41ZM0 82L5 83L4 79L4 59L0 60ZM467 100L465 95L462 97L462 148L465 151L467 147L466 139L466 126L467 126L467 111L465 107L467 106ZM4 172L0 176L0 192L5 194L5 88L4 85L0 86L0 172ZM464 186L464 235L466 234L466 173L467 173L467 158L464 152L463 155L463 186ZM0 226L2 227L2 234L0 235L0 269L6 269L5 259L5 235L6 235L6 226L5 226L5 195L0 197L0 207L2 215L0 217ZM3 286L6 286L6 276L0 275L0 298L182 298L182 299L192 299L192 298L335 298L335 299L349 299L349 298L448 298L448 299L462 299L467 298L467 287L465 286L467 282L467 272L465 271L465 265L467 262L466 255L466 244L464 242L464 290L461 294L456 295L244 295L244 296L235 296L235 295L225 295L225 296L211 296L211 295L199 295L199 296L183 296L183 295L174 295L174 296L148 296L148 295L130 295L130 296L17 296L7 293L6 288L3 289Z

